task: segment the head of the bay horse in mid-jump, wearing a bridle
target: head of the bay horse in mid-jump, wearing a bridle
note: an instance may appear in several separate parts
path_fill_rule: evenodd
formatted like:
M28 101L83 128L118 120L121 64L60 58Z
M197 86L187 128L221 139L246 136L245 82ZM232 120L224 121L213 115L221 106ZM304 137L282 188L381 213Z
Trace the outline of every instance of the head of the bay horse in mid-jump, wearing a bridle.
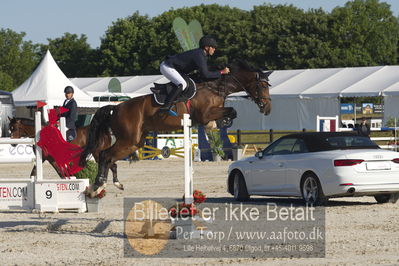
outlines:
M259 111L270 114L272 99L269 94L269 76L273 71L263 72L249 64L240 61L232 67L231 76L238 85L240 91L244 90L258 105Z

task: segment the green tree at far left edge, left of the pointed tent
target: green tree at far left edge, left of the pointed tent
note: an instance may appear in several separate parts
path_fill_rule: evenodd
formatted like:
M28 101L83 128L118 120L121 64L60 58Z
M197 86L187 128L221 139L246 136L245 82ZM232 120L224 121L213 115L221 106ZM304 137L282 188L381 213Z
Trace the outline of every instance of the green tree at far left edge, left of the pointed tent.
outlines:
M25 33L0 29L0 86L12 91L24 82L37 65L37 47L24 41Z

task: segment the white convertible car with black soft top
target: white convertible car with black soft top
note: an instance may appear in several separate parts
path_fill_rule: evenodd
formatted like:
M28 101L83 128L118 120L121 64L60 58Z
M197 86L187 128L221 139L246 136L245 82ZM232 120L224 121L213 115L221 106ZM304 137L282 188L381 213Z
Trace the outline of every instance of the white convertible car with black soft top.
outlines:
M396 202L399 153L353 132L290 134L232 163L227 191L239 201L264 195L303 197L309 204L347 196Z

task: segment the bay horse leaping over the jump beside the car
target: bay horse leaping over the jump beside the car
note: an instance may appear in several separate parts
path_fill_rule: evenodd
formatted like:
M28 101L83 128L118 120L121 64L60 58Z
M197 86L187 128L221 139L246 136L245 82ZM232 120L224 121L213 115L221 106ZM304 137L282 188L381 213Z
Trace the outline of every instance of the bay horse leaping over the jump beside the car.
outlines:
M181 129L184 113L190 114L193 125L206 125L210 121L225 118L234 119L237 113L232 107L224 107L225 99L232 93L245 91L260 112L268 115L272 107L268 77L272 71L264 73L243 61L232 65L230 69L231 73L220 79L197 83L197 93L190 100L190 107L184 102L176 103L177 116L159 112L160 105L154 101L152 94L98 109L90 123L87 145L81 153L80 164L84 165L87 156L99 150L99 129L112 130L116 142L100 152L98 174L94 185L89 188L89 196L95 197L105 188L111 165L143 147L149 131Z

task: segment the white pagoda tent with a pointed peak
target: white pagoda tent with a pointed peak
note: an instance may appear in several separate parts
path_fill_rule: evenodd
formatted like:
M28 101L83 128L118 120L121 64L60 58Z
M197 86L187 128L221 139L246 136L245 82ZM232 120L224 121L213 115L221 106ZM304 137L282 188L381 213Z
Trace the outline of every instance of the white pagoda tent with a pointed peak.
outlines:
M82 92L61 71L50 51L32 73L17 89L12 91L16 106L35 106L36 101L46 102L50 106L59 106L65 100L64 88L74 88L74 98L79 107L96 107L92 98Z

